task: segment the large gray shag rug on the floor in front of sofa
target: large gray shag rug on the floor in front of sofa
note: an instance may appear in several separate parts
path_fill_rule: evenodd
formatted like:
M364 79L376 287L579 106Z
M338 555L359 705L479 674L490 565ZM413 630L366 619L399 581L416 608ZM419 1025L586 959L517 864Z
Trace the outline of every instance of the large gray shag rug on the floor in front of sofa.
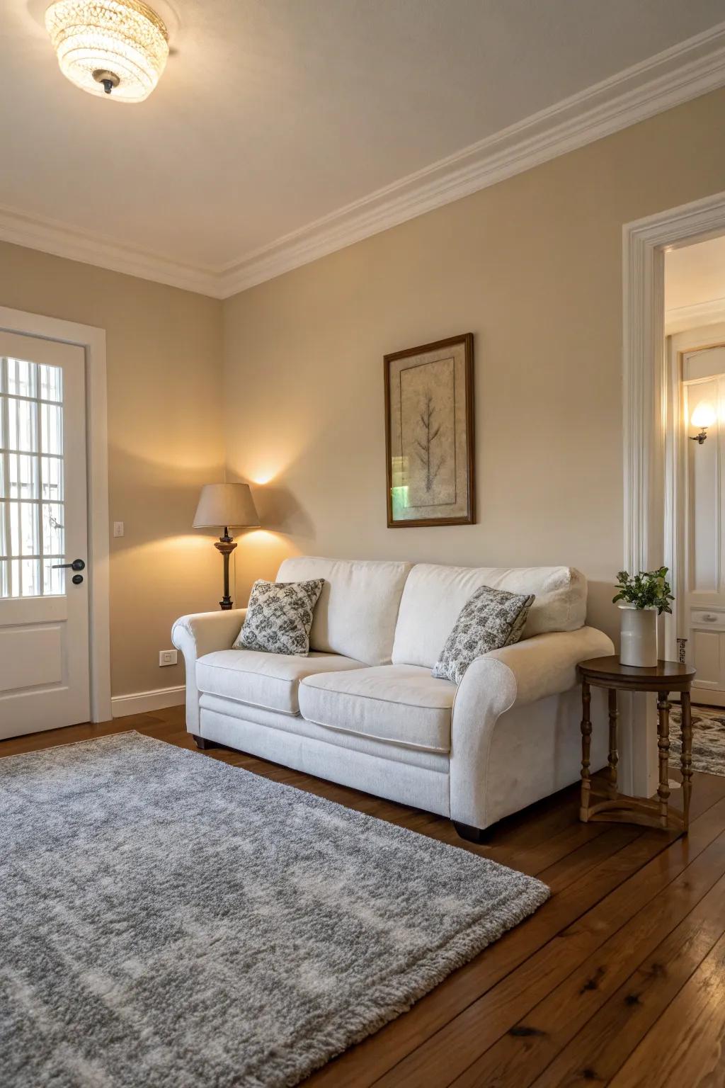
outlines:
M298 1084L549 897L122 733L0 759L3 1088Z

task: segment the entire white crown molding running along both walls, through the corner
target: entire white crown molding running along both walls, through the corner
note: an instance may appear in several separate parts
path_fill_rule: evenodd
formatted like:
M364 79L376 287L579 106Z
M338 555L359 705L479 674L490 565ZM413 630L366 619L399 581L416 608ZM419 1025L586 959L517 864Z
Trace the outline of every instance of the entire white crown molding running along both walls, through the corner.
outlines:
M725 23L218 268L0 208L0 239L228 298L725 85Z

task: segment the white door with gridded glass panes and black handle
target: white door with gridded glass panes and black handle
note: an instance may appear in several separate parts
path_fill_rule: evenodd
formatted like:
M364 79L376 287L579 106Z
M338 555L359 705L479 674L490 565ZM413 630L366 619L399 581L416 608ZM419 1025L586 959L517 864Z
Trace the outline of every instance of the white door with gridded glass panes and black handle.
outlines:
M0 738L90 716L86 558L84 349L0 332Z

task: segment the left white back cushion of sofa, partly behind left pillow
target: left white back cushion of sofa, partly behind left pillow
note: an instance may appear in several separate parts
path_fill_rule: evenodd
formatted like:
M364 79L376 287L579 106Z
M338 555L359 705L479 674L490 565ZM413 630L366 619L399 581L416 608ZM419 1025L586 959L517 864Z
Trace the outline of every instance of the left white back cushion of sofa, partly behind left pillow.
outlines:
M314 609L310 650L345 654L365 665L389 665L410 570L410 562L298 556L285 559L277 581L325 580Z

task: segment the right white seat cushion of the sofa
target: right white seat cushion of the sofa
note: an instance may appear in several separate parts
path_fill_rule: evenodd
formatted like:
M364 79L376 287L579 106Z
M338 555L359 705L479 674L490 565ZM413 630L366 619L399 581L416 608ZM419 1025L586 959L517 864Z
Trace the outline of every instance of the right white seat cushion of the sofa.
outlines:
M316 672L300 683L302 717L327 729L448 753L455 684L414 665Z

